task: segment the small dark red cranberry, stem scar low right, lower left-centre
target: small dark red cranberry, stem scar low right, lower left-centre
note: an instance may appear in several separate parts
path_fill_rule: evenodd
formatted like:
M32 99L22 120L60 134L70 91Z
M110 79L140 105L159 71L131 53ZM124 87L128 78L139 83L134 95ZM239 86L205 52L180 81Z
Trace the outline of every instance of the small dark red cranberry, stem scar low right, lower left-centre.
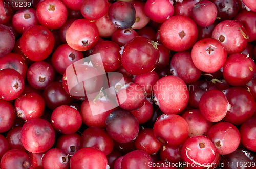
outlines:
M63 150L66 155L74 155L80 149L81 136L74 134L63 134L56 142L56 147Z

